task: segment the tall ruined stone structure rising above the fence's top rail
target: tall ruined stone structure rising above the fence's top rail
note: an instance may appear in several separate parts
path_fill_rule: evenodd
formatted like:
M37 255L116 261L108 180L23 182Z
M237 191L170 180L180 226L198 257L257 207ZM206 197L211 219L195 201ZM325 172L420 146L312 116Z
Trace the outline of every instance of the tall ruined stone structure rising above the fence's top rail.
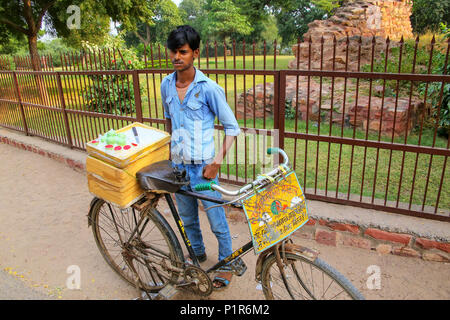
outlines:
M403 36L413 37L410 22L412 4L409 0L348 0L335 14L327 20L315 20L303 35L304 42L292 46L296 59L289 63L289 68L311 68L324 70L343 70L346 62L347 35L349 37L348 70L357 70L358 62L362 65L370 62L372 46L375 40L375 56L385 50L386 38L395 45ZM322 53L320 42L324 41ZM333 59L333 39L336 39L335 59ZM311 41L311 50L310 50ZM300 47L300 56L298 49ZM359 47L361 51L359 52ZM311 51L311 62L309 62ZM359 57L360 56L360 59ZM310 63L310 64L309 64ZM334 65L333 65L334 63Z

